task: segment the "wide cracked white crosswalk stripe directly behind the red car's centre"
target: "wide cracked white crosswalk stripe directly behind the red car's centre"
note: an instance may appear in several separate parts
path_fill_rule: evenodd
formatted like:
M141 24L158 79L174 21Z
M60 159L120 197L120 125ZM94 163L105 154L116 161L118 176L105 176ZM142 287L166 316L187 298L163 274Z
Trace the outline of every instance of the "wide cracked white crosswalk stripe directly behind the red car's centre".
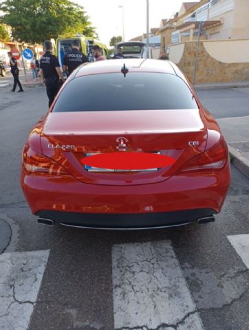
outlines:
M170 241L113 245L115 329L203 330Z

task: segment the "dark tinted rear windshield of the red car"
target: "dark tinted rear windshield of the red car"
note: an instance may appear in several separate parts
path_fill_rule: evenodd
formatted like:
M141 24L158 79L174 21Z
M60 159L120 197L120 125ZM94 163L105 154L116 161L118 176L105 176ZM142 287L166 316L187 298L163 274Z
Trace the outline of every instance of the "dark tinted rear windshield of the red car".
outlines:
M184 81L173 74L94 74L71 80L54 112L197 109Z

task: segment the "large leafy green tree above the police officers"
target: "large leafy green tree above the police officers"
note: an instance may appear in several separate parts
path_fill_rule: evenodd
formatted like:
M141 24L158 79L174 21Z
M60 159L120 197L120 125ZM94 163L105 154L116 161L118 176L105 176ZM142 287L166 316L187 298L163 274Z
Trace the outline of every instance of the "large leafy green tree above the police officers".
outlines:
M84 8L70 0L3 0L0 10L2 21L11 26L19 42L43 43L60 34L96 34Z

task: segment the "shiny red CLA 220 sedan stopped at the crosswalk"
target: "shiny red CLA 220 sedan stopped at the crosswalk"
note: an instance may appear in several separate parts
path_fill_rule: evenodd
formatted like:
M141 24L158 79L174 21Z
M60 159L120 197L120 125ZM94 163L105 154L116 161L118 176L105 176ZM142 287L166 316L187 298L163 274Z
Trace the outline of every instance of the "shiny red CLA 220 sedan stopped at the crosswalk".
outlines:
M121 153L131 166L86 164L87 157ZM140 165L132 166L138 153ZM174 162L149 166L151 155ZM48 225L141 229L214 221L229 184L219 126L169 61L79 67L23 148L23 192Z

